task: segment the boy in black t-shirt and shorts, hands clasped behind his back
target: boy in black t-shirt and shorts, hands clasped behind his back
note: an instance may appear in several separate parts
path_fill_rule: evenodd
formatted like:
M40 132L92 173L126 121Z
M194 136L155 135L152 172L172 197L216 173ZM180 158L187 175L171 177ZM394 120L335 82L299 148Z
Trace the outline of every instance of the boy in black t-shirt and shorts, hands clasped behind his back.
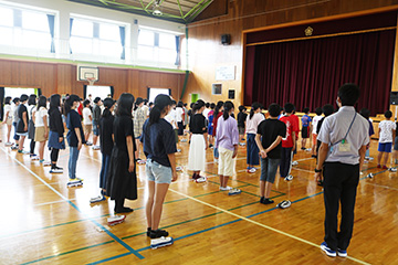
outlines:
M272 184L275 181L277 167L282 157L282 138L286 137L286 125L277 120L281 107L277 104L269 106L270 117L260 123L255 136L255 144L260 149L261 176L260 176L260 203L271 204L270 198Z

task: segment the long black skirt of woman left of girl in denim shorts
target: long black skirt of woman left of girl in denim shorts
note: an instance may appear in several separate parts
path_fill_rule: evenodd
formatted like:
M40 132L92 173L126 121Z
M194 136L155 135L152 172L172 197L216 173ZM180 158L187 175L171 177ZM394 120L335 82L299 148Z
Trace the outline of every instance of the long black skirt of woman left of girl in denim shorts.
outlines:
M111 197L111 200L137 200L136 170L128 172L128 153L115 146L106 180L106 195Z

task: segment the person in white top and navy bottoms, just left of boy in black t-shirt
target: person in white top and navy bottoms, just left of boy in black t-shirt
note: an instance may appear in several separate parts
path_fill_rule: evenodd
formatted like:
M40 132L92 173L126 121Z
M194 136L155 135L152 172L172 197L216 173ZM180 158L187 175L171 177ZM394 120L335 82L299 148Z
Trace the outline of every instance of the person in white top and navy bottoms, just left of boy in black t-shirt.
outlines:
M259 127L259 124L265 119L264 115L261 113L261 104L253 103L250 109L250 115L248 115L245 120L247 127L247 162L248 162L248 172L254 173L256 169L254 166L258 166L259 162L259 147L255 145L255 135Z

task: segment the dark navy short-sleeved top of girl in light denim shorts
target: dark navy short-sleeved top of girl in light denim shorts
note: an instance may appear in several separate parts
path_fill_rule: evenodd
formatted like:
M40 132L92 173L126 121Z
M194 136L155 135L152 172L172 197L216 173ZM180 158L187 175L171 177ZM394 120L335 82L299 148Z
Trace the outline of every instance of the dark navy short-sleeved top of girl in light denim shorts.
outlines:
M168 121L161 118L158 123L149 125L147 119L140 141L144 142L144 153L148 159L171 167L167 155L177 152L177 146L175 131Z

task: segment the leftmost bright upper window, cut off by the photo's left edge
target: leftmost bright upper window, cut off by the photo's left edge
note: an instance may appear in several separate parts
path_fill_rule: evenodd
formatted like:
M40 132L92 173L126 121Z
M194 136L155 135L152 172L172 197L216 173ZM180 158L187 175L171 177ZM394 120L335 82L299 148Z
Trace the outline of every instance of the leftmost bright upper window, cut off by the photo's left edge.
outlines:
M0 45L51 52L52 38L44 11L0 6Z

